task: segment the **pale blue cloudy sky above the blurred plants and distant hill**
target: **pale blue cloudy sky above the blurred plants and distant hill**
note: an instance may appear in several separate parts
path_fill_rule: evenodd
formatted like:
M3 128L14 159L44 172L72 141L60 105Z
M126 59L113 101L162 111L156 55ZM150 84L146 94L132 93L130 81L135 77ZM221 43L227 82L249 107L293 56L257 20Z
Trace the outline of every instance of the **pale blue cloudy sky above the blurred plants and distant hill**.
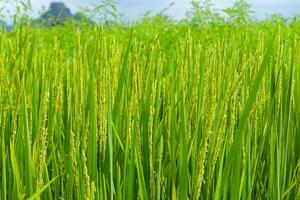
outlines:
M4 7L4 12L13 13L15 11L15 3L4 3L8 0L0 0L0 7ZM16 0L11 0L14 2ZM19 0L20 1L20 0ZM38 17L42 8L47 9L50 2L64 2L67 7L74 13L79 7L92 6L99 4L101 0L31 0L32 4L32 17ZM159 12L173 2L166 14L170 15L174 19L180 19L184 17L186 11L190 8L191 0L116 0L118 3L118 9L121 13L124 13L125 17L129 20L138 19L148 10L152 13ZM226 7L230 7L235 0L212 0L216 8L222 10ZM248 0L252 5L252 10L256 13L255 16L259 19L266 17L272 13L281 13L284 17L290 17L294 14L300 14L300 0ZM9 21L8 15L4 17Z

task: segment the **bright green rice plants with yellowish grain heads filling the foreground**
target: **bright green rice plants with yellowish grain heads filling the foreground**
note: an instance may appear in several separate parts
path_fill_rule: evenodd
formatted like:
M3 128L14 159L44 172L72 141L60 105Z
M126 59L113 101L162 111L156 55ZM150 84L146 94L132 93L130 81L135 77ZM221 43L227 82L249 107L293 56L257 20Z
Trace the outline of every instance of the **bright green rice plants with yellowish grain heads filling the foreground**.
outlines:
M0 33L0 199L300 199L299 25Z

